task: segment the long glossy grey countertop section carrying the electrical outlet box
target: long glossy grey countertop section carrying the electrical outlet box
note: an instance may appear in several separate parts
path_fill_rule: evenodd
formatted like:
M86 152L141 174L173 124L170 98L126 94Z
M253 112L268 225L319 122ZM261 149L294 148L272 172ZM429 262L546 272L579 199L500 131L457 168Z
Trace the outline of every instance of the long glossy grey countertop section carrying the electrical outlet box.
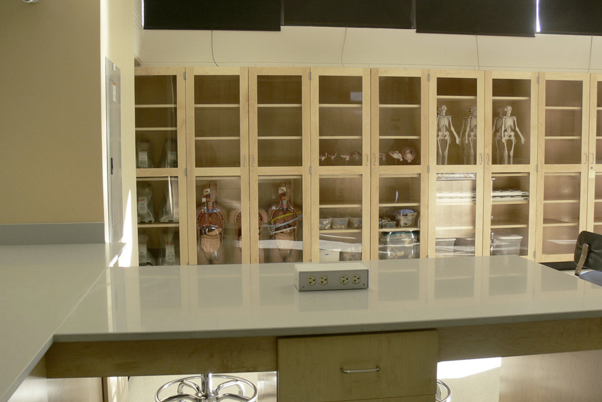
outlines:
M341 263L344 264L344 263ZM110 268L56 341L280 336L602 317L602 288L518 256L365 262L298 292L293 264Z

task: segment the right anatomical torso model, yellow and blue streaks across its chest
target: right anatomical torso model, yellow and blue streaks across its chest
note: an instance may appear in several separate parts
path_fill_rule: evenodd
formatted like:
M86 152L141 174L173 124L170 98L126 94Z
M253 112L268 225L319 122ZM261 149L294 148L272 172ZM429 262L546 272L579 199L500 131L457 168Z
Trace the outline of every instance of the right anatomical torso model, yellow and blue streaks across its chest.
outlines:
M297 261L297 224L301 212L294 208L291 202L293 196L291 182L284 181L278 185L280 203L270 215L270 234L276 244L276 249L270 250L270 262Z

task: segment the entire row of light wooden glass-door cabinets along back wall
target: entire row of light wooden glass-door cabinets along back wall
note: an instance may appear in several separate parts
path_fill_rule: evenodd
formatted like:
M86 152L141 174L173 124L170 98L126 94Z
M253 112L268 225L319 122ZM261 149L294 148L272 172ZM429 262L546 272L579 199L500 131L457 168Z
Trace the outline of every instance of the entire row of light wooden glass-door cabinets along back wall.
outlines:
M601 75L136 74L141 263L568 261L602 231ZM217 226L199 223L209 203Z

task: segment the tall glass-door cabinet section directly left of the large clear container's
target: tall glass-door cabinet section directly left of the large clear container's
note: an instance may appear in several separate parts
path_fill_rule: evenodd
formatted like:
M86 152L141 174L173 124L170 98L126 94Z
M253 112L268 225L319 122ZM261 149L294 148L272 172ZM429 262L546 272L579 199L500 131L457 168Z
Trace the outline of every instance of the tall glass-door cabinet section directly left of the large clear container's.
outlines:
M311 72L312 261L370 259L370 70Z

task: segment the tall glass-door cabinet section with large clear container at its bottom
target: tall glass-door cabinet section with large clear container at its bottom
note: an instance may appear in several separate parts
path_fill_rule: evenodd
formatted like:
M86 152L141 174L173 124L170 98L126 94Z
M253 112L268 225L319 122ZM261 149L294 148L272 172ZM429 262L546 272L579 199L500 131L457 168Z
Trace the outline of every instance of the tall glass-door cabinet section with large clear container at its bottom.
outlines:
M427 72L371 72L371 258L420 258L428 187ZM424 194L423 194L424 193ZM426 196L424 196L426 198ZM426 199L424 199L426 202ZM426 212L426 211L425 211ZM426 214L425 214L426 215ZM426 230L423 240L426 239ZM426 247L422 253L426 257Z

